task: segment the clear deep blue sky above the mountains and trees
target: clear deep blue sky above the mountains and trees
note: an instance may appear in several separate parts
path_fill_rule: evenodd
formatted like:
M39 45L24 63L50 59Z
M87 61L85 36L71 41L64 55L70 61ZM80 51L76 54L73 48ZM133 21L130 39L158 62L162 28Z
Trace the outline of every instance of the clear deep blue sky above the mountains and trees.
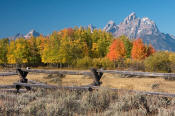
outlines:
M131 12L175 35L174 5L175 0L0 0L0 38L31 29L47 35L80 25L103 28L109 20L119 24Z

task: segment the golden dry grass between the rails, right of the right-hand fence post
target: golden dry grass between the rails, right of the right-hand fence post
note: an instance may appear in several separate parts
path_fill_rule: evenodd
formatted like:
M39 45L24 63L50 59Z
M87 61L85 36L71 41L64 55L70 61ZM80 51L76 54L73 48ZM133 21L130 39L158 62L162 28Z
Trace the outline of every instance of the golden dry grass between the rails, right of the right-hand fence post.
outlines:
M102 86L112 88L175 93L175 81L168 81L163 78L120 78L119 75L105 74L102 82ZM159 86L153 88L154 84Z

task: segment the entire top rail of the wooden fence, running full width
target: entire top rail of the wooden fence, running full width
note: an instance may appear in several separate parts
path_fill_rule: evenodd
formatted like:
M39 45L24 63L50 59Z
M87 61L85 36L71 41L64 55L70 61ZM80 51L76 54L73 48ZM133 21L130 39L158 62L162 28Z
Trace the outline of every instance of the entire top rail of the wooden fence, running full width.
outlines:
M34 72L34 73L46 73L46 74L64 74L64 75L87 75L92 76L90 71L79 71L79 70L43 70L43 69L22 69L25 72ZM119 71L119 70L102 70L99 69L97 72L110 73L110 74L123 74L131 76L147 76L147 77L175 77L175 73L156 73L156 72L138 72L138 71ZM16 72L6 72L0 73L0 76L11 76L17 75Z

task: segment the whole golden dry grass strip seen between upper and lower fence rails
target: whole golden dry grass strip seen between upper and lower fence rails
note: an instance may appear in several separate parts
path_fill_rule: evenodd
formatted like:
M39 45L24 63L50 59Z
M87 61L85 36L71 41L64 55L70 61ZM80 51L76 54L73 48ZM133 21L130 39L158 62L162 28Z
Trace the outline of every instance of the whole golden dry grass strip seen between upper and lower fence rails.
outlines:
M29 80L35 80L39 82L44 82L53 85L59 85L60 83L52 82L50 79L44 78L48 76L47 74L29 74L27 78ZM0 77L0 84L12 84L19 79L18 76L7 76ZM80 86L88 85L92 83L92 78L85 77L82 75L67 75L61 79L61 85L63 86ZM104 74L101 81L103 82L102 86L112 87L119 89L130 89L130 90L139 90L139 91L157 91L157 92L168 92L175 93L175 81L168 81L163 78L120 78L119 75L115 74ZM153 88L153 85L158 85Z

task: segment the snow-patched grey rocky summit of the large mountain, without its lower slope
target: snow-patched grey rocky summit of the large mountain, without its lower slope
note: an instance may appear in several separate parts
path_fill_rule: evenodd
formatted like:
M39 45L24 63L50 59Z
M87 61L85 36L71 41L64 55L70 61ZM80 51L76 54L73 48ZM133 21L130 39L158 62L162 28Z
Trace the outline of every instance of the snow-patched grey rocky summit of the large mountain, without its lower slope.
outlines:
M118 26L113 21L109 21L104 28L114 36L126 35L129 38L138 38L141 35L158 35L160 32L156 24L148 17L137 18L136 13L131 13Z

